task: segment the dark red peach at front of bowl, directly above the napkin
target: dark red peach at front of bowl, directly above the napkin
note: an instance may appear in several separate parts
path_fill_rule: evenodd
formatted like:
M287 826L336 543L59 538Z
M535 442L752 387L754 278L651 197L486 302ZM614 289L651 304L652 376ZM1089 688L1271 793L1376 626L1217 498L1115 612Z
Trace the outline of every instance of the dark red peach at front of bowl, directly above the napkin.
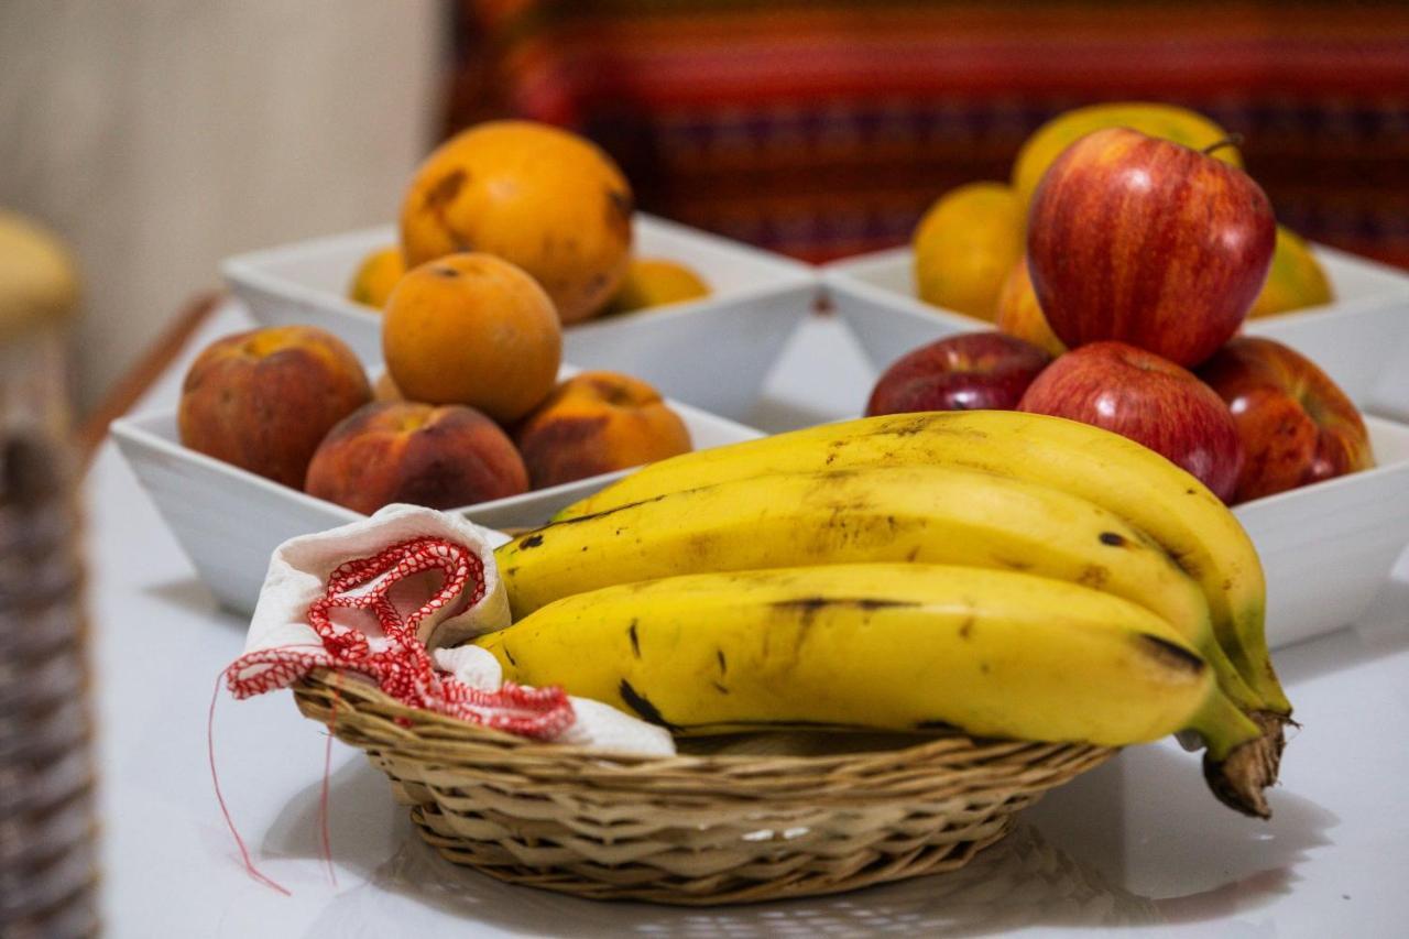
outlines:
M528 474L473 407L376 402L328 431L304 489L365 515L392 502L454 509L526 492Z

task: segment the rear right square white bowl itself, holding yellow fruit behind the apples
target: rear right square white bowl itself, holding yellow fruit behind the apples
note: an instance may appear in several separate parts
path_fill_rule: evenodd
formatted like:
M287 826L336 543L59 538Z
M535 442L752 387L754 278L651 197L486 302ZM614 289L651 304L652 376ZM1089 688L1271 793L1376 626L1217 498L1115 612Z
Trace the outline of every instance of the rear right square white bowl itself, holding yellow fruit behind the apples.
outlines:
M1360 407L1409 420L1409 274L1324 245L1312 248L1334 303L1250 320L1310 357ZM914 293L909 248L838 261L823 289L878 369L912 348L992 323L931 306Z

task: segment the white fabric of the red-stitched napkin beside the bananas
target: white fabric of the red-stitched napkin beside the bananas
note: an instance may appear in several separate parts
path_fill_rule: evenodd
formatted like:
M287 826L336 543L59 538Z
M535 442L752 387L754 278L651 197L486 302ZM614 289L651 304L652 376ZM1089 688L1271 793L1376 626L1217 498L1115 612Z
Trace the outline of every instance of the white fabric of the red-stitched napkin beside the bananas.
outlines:
M495 547L507 541L509 536L455 515L413 505L389 505L368 519L280 544L269 560L259 602L245 636L245 653L289 646L321 647L321 639L309 625L307 613L309 606L323 596L328 575L345 561L371 557L399 541L424 536L444 537L475 551L485 568L485 596L454 615L451 612L457 605L447 603L442 612L423 620L420 639L442 671L473 688L497 689L503 684L499 661L483 649L454 646L510 625L509 596L499 579L493 554ZM397 601L399 609L403 605L407 608L404 612L418 608L438 587L438 575L427 575L421 584L424 589L416 595L417 581L407 578L403 585L406 589ZM372 616L356 610L334 610L334 622L362 630L373 650L386 643ZM600 701L571 701L576 719L555 737L555 743L621 753L675 753L675 742L665 729Z

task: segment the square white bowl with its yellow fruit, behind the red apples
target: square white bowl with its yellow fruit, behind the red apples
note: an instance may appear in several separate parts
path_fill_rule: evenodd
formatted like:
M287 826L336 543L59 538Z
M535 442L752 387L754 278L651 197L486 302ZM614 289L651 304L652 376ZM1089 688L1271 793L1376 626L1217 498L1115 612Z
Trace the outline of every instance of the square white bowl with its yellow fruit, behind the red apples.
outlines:
M1043 175L1065 147L1117 127L1185 149L1222 142L1210 154L1213 162L1241 165L1237 148L1226 142L1229 133L1185 109L1099 104L1054 118L1019 152L1009 183L978 182L944 193L921 219L912 245L824 268L824 290L872 364L885 368L929 340L976 329L999 329L1053 354L1064 351L1031 281L1029 213ZM1203 274L1195 278L1196 288L1215 289ZM1309 355L1360 407L1409 420L1405 272L1275 226L1272 259L1243 331Z

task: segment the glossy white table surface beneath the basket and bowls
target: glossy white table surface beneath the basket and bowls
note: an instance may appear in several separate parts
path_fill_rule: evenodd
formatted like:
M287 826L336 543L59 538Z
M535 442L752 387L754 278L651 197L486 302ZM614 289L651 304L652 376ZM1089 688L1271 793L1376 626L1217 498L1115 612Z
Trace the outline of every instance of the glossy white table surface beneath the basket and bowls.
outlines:
M247 321L221 307L138 410L173 403L194 351ZM761 416L854 410L869 379L850 337L816 320L789 347ZM1364 623L1278 653L1305 726L1271 822L1222 808L1198 757L1161 743L1051 792L964 871L758 907L600 904L457 869L420 843L361 753L337 742L334 884L318 846L323 728L289 692L247 702L221 692L220 782L285 897L241 866L207 763L207 708L245 623L217 609L110 443L85 495L111 936L1409 935L1409 558Z

